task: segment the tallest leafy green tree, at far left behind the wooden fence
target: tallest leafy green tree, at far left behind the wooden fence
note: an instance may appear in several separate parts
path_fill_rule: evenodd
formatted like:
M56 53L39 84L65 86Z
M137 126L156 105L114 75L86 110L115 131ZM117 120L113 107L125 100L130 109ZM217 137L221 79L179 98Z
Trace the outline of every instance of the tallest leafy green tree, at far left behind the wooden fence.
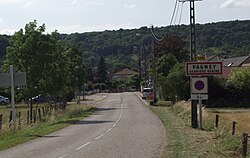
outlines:
M13 65L26 72L26 97L44 94L63 96L66 83L66 66L63 49L55 33L44 34L45 25L33 21L26 24L10 39L3 68Z

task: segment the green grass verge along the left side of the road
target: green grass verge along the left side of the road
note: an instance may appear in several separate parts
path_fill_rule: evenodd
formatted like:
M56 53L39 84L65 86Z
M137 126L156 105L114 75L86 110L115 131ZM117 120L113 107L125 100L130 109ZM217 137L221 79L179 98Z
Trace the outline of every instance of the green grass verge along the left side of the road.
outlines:
M75 121L80 121L89 116L95 110L86 105L70 105L65 111L52 111L50 116L43 121L29 126L17 132L5 132L0 135L0 150L4 150L18 144L45 136L51 132L60 130ZM70 123L69 123L70 122Z

